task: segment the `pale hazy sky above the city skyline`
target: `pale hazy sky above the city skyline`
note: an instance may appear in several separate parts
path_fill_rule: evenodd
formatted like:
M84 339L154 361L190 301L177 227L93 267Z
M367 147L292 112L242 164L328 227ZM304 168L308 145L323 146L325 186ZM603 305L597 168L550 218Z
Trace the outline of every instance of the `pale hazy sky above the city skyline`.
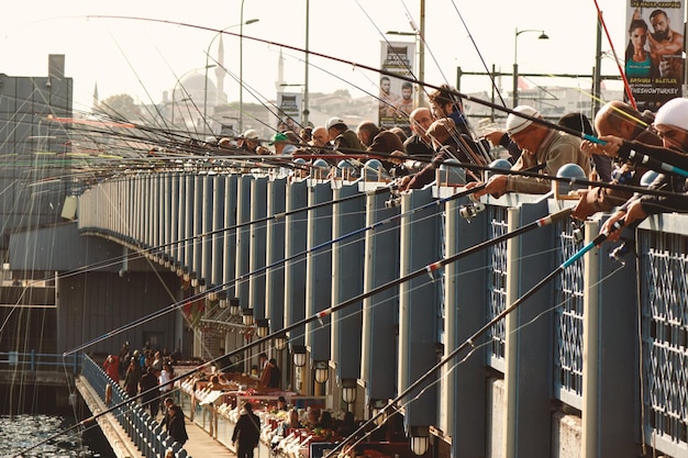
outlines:
M514 32L518 60L523 72L590 74L595 64L596 18L593 0L432 0L426 1L425 80L439 85L456 81L456 67L464 71L485 71L496 65L510 72L513 64ZM617 53L623 57L626 40L626 2L599 0ZM307 0L244 0L244 35L303 47L306 43ZM184 5L184 7L181 7ZM158 102L178 78L195 70L202 74L206 52L217 56L217 32L173 23L132 19L95 18L124 15L184 22L221 30L240 23L241 0L195 0L186 3L158 0L20 1L0 15L0 72L10 76L47 74L47 55L66 55L66 74L74 78L75 109L90 107L95 83L104 99L130 93L142 102ZM411 31L409 15L420 23L420 0L310 0L310 49L378 67L380 41L389 30ZM89 18L90 16L90 18ZM464 25L464 23L466 25ZM230 29L238 32L238 27ZM388 36L390 40L412 37ZM240 41L223 36L228 72L240 72ZM475 42L475 44L474 44ZM244 81L264 99L275 98L275 80L280 47L243 40ZM603 38L602 51L611 47ZM284 51L285 80L299 85L304 79L303 54ZM212 60L211 60L212 63ZM210 69L214 72L214 69ZM603 60L602 72L617 75L611 59ZM238 83L225 78L230 100L238 99ZM378 76L351 65L311 57L311 91L348 89L354 97L365 91L377 93ZM588 90L590 81L569 81ZM501 85L510 89L511 81ZM298 88L291 88L298 90ZM462 91L488 90L486 80L465 78ZM581 96L582 97L582 96ZM254 101L244 92L244 101Z

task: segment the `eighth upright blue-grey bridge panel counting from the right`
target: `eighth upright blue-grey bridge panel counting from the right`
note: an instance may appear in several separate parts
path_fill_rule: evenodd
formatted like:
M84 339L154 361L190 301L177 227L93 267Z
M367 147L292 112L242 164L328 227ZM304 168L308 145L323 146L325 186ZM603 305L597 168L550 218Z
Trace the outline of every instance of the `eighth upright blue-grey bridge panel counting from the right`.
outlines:
M303 209L307 205L308 192L304 181L287 185L287 211ZM306 252L308 213L297 212L285 221L285 258ZM299 257L285 264L285 323L291 325L306 317L306 260ZM290 332L290 345L303 345L304 326Z

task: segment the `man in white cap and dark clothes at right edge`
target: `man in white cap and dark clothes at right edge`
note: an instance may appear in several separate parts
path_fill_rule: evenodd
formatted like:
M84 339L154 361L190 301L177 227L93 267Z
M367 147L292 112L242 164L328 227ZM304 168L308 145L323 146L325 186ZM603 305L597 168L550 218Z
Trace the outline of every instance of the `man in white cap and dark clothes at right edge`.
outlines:
M681 170L688 170L688 99L672 99L663 104L655 116L654 127L662 137L664 147L645 145L634 141L624 141L617 136L601 136L600 139L607 142L598 145L604 154L612 157L630 158L632 160L643 160L642 156L652 160L646 161L646 166L662 171L661 164L668 164ZM633 155L631 154L633 153ZM678 194L674 198L661 196L633 196L626 203L604 222L601 233L609 234L608 239L618 241L621 230L610 232L613 224L619 220L624 220L624 225L629 226L636 221L642 221L648 214L664 212L688 212L688 189L686 178L678 175L659 175L650 188L663 188L672 190Z

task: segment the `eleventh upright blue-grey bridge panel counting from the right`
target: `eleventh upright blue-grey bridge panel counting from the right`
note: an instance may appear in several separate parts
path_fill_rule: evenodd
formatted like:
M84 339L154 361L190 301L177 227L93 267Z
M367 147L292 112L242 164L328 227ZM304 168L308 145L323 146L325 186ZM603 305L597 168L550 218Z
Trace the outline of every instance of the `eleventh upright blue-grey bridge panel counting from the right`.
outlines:
M251 271L251 183L254 177L244 175L236 182L236 224L243 225L236 231L236 277L242 278ZM234 284L236 297L242 308L249 308L248 279L243 278Z

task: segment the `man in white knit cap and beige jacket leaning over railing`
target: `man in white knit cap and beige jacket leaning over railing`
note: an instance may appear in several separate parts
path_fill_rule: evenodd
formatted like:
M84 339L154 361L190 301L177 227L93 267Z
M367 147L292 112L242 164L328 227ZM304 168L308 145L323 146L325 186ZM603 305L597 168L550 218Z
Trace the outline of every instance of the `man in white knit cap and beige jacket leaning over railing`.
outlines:
M514 108L507 116L507 133L522 150L512 170L537 169L541 174L554 177L562 166L577 164L586 176L590 174L590 159L580 150L580 138L536 123L532 118L542 119L542 115L528 105ZM466 188L479 185L470 182ZM544 194L551 189L551 181L544 178L496 175L484 189L476 191L475 197L490 194L499 198L507 192Z

